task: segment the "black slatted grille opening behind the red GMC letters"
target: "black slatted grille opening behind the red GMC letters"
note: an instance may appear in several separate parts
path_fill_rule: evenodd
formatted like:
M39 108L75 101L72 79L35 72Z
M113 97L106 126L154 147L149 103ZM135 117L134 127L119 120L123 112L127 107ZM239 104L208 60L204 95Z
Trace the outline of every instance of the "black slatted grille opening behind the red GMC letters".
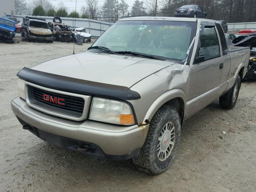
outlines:
M55 112L60 112L64 114L68 114L71 116L81 117L84 111L84 99L74 96L68 96L64 94L57 94L54 92L48 92L45 90L41 90L39 88L35 88L32 86L28 86L28 94L29 100L32 104L36 104L42 108L46 108L48 110L52 110ZM47 95L47 96L44 96ZM50 101L50 97L52 98ZM44 100L45 99L49 99ZM60 98L61 101L58 104L57 99Z

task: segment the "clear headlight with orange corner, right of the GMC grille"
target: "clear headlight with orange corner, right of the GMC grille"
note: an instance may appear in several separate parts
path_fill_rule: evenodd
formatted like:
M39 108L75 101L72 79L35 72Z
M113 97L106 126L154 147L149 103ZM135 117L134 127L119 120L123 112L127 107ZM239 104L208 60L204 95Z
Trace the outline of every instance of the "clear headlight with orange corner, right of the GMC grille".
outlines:
M96 97L92 99L89 119L120 125L135 124L132 109L127 103Z

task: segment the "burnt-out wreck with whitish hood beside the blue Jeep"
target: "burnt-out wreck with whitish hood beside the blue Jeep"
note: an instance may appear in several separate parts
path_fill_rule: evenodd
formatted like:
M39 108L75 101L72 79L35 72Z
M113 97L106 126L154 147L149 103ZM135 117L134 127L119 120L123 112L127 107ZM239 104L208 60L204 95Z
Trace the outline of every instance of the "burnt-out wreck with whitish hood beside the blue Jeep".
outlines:
M53 42L53 34L45 19L24 17L22 23L22 36L28 42L32 40Z

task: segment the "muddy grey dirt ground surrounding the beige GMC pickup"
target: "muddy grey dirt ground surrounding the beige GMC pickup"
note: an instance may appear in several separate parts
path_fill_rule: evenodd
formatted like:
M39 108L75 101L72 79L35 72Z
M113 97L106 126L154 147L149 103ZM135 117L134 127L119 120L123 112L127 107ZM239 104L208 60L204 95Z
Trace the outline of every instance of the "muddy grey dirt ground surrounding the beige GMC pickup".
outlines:
M75 52L88 46L76 45ZM242 83L234 109L215 101L188 119L174 163L158 176L140 172L132 160L64 150L23 130L10 107L16 73L72 49L61 42L0 42L0 192L256 192L256 81Z

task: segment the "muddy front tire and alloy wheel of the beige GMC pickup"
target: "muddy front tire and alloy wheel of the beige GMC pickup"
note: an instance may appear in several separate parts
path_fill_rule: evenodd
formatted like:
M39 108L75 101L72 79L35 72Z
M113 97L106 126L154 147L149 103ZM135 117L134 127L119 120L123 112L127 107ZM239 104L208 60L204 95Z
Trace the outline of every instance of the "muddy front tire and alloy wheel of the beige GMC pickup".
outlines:
M177 110L172 106L162 106L152 118L140 154L132 159L135 166L151 175L167 170L176 154L180 132L181 122Z

